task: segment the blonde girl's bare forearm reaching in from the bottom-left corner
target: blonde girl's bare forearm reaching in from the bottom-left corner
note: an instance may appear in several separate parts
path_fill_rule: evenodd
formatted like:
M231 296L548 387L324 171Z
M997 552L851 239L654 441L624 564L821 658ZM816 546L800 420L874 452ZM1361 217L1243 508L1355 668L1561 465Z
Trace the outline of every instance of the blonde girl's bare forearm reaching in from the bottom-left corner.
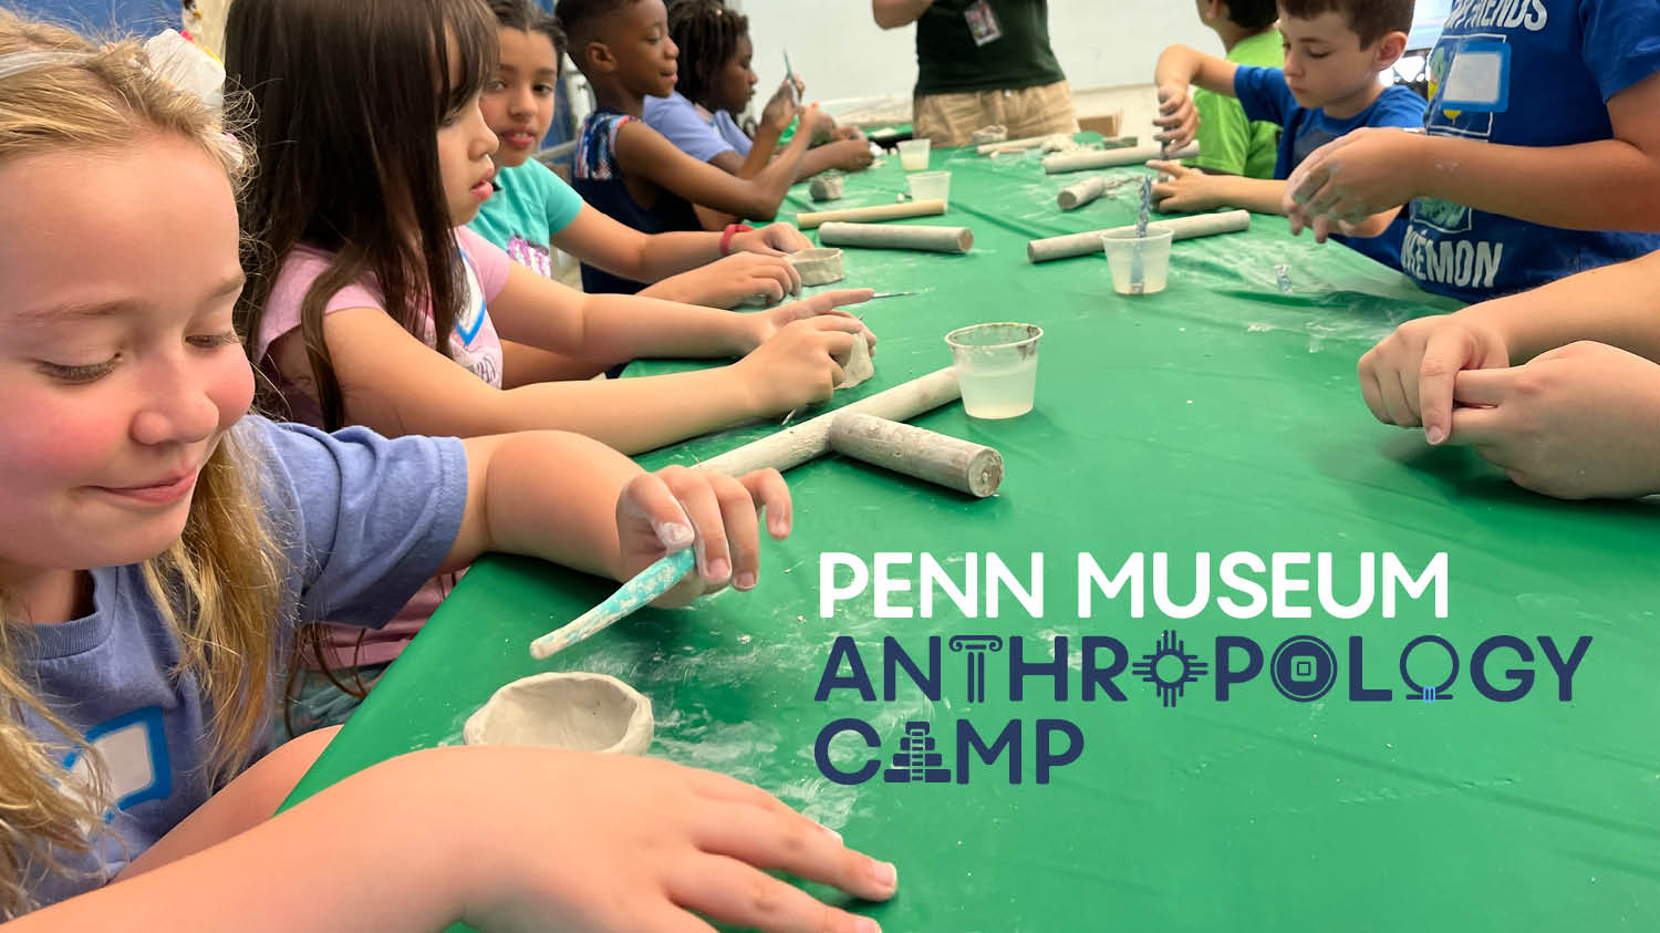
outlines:
M447 818L447 797L412 794L408 785L422 779L423 764L408 759L427 754L375 765L204 852L7 928L442 930L463 916L471 893L468 858L453 833L465 820ZM322 838L330 842L319 847ZM272 880L305 896L274 898Z

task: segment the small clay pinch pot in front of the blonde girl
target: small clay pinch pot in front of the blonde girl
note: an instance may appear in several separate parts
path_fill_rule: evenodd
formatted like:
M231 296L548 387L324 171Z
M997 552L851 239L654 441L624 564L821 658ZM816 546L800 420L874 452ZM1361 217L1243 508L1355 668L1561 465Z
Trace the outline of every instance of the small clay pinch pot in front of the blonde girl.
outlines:
M535 745L639 755L651 745L651 699L606 674L549 672L513 681L461 727L468 745Z

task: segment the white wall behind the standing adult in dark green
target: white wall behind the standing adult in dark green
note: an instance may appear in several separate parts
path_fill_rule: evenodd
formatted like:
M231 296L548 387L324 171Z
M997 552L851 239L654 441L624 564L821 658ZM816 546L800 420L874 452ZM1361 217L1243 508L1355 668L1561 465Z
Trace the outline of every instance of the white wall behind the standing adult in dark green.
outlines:
M916 27L883 32L870 0L727 0L755 42L757 100L784 80L784 50L807 100L898 95L916 83ZM1190 0L1049 0L1049 42L1074 90L1152 81L1172 42L1222 53Z

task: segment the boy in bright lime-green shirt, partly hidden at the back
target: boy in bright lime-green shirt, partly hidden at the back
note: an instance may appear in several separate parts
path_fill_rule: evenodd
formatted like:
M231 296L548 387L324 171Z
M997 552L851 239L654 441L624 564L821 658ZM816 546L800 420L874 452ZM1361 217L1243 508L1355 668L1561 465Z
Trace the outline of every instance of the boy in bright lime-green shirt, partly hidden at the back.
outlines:
M1285 61L1280 30L1273 28L1280 12L1275 0L1199 0L1199 20L1215 30L1235 65L1278 68ZM1189 166L1210 174L1243 174L1273 178L1273 161L1280 146L1280 125L1247 120L1237 98L1194 90L1199 110L1199 156Z

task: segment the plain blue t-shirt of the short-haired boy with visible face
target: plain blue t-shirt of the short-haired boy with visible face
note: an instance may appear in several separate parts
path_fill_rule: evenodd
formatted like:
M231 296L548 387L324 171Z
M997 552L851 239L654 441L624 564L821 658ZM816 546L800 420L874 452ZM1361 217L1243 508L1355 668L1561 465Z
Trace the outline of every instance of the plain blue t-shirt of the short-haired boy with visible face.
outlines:
M1423 128L1424 125L1424 98L1401 85L1384 88L1366 110L1348 120L1335 120L1326 116L1325 110L1300 106L1291 96L1291 88L1285 85L1285 71L1280 68L1238 66L1233 71L1233 95L1240 98L1247 118L1270 120L1282 126L1280 154L1273 163L1273 178L1280 181L1291 178L1291 171L1310 153L1361 126ZM1333 236L1331 239L1371 256L1391 269L1399 269L1404 236L1406 211L1401 211L1378 236Z

